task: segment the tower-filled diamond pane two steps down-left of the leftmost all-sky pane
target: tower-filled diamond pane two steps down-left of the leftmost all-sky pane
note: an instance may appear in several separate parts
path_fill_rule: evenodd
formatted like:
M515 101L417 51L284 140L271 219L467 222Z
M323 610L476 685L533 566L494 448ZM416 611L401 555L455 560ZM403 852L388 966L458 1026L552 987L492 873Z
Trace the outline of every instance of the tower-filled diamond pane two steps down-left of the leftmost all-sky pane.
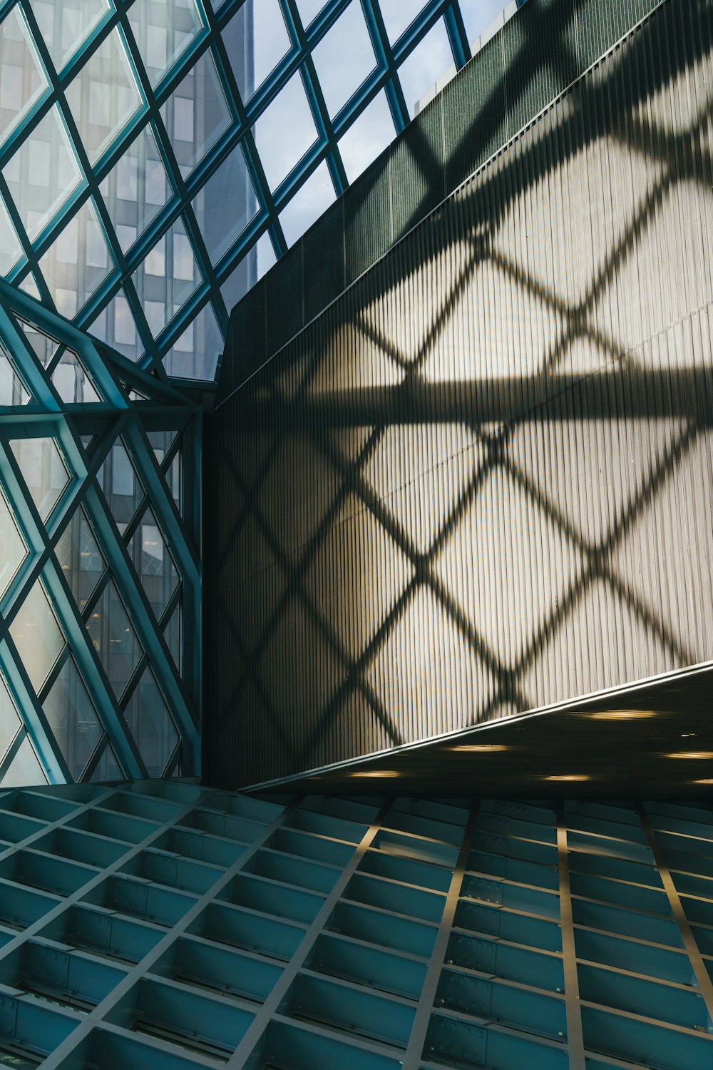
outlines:
M190 239L179 217L133 276L154 337L185 304L200 280Z

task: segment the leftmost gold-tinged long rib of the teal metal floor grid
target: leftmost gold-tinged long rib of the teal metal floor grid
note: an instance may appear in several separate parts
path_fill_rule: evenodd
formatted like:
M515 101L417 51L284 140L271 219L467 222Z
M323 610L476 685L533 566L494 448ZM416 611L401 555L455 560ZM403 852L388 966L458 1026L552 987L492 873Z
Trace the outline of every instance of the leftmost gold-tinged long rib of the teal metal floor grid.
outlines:
M270 1019L274 1014L279 1012L280 1006L286 998L290 988L294 983L297 974L305 965L310 951L312 951L314 947L317 936L323 931L327 919L329 918L329 915L334 912L335 906L344 895L346 886L356 872L357 867L361 863L367 851L369 851L373 844L374 838L381 831L386 816L391 809L391 800L389 800L382 806L374 821L370 823L367 831L363 834L359 842L353 844L354 850L352 857L342 868L341 873L337 877L331 890L324 899L324 902L313 921L307 928L305 935L293 952L292 958L284 964L284 968L276 983L273 985L269 995L258 1009L255 1017L243 1035L241 1042L228 1059L226 1064L227 1070L241 1070L243 1067L252 1065L251 1056L253 1056L261 1037L264 1036Z

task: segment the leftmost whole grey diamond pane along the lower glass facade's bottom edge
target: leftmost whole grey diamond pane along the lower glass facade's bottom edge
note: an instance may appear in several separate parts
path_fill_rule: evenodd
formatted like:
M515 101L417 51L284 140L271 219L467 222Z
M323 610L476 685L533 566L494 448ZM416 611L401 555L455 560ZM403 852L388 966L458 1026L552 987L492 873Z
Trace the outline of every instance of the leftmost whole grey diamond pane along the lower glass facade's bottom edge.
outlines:
M62 666L43 709L69 773L78 781L99 740L102 725L73 658Z

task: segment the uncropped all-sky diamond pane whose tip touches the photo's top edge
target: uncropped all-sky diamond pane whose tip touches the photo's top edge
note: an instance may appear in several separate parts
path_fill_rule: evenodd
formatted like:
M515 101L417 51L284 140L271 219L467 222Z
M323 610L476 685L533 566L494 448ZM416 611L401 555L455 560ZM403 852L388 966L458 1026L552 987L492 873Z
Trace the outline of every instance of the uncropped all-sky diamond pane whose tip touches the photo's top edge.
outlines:
M376 66L359 0L352 0L312 52L324 100L334 118Z

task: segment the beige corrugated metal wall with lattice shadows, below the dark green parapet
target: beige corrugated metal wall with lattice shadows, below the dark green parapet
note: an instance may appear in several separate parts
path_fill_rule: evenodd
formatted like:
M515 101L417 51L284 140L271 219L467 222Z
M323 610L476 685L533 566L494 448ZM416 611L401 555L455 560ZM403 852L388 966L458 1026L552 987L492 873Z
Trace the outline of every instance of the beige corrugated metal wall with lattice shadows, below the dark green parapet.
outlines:
M211 782L711 657L712 24L661 7L206 421Z

